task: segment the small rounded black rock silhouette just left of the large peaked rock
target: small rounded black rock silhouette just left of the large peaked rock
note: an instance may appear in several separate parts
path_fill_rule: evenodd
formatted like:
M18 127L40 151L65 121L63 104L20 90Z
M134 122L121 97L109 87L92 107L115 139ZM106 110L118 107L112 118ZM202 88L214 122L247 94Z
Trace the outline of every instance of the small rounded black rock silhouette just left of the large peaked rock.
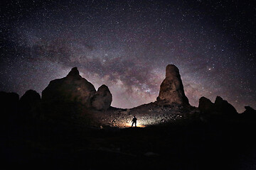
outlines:
M21 114L26 118L39 117L41 113L41 96L36 91L26 91L19 101Z

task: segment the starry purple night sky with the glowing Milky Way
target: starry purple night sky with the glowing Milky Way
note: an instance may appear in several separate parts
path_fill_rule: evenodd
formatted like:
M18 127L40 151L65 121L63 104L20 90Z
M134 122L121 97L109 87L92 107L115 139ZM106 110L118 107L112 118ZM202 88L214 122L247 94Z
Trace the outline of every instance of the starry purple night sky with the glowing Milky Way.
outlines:
M156 101L167 64L186 96L256 108L254 1L1 1L0 91L41 91L72 67L112 106Z

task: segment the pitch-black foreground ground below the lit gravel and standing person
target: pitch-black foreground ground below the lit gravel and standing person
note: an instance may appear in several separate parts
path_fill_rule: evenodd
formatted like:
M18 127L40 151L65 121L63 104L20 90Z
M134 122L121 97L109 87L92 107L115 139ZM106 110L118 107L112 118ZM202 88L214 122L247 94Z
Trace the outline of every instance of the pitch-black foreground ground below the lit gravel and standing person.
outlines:
M1 124L4 169L256 169L256 123L178 120L93 128L42 120Z

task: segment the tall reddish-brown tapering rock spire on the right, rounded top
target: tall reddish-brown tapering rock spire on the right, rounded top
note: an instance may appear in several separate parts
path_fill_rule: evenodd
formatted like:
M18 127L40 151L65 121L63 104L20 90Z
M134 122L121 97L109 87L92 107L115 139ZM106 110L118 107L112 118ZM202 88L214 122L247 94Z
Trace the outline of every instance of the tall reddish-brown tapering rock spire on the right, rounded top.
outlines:
M159 96L156 98L159 105L189 105L181 81L181 75L174 64L166 67L166 78L161 83Z

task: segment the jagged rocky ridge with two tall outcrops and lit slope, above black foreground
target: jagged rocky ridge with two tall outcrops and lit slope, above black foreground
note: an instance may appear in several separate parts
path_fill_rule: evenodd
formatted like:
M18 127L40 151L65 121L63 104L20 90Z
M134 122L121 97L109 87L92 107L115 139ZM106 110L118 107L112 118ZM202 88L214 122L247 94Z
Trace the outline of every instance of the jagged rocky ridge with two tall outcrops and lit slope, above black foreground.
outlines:
M141 126L169 123L183 118L200 118L203 121L238 118L235 108L217 96L212 103L201 97L198 108L190 106L186 97L178 68L172 64L166 67L166 78L160 86L155 102L136 108L111 107L112 94L106 85L95 87L82 78L76 67L62 79L50 81L41 96L33 90L18 98L18 94L0 92L4 115L46 118L50 120L81 120L87 125L108 125L128 127L132 116L136 115ZM240 118L256 118L250 106L245 107ZM19 113L19 114L18 114ZM218 118L218 119L216 119Z

